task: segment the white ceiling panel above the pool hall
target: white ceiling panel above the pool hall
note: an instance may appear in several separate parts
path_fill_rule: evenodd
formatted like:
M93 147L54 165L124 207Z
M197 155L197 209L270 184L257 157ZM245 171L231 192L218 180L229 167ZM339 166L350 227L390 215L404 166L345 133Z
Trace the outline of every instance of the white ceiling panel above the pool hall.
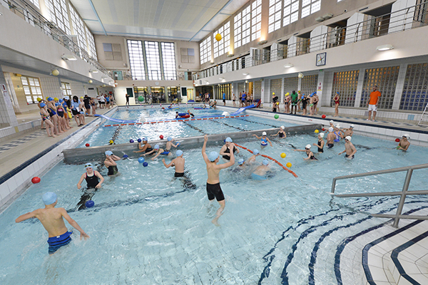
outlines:
M249 0L71 0L92 33L200 41Z

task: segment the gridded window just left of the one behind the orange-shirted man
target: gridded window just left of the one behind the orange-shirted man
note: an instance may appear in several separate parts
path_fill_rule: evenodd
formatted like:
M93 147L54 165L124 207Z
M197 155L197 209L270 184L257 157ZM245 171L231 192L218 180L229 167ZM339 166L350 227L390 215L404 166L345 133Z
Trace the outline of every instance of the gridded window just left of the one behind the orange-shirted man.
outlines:
M340 105L344 107L355 106L355 95L357 94L358 76L360 71L335 72L333 76L332 96L330 106L335 106L335 94L340 93Z

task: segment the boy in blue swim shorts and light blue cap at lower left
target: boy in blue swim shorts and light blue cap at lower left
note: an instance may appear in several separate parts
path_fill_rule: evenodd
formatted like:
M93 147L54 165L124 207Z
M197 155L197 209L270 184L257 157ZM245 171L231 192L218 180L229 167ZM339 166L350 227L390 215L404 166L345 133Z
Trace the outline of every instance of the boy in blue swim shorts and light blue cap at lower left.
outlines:
M45 207L44 209L36 209L33 212L28 212L22 214L16 218L15 222L19 223L25 221L26 219L37 218L43 224L44 228L49 234L48 244L49 244L49 254L54 254L60 247L63 247L66 244L71 242L70 235L72 232L68 232L64 220L66 219L71 226L78 230L81 233L81 239L84 237L88 239L89 236L83 229L77 224L74 219L68 215L66 209L64 208L55 208L56 203L58 202L56 194L54 192L45 193L41 199L43 200Z

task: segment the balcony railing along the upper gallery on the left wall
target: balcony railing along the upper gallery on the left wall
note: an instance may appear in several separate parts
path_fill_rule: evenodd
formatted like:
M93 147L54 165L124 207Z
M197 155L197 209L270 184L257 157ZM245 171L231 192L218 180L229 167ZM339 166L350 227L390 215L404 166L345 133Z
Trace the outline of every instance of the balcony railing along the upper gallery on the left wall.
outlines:
M46 19L43 15L41 15L39 11L36 11L36 9L34 9L32 6L30 6L29 4L26 4L24 1L20 3L14 0L0 0L0 1L6 3L6 5L9 6L10 11L20 16L26 22L31 24L31 26L39 28L42 33L54 39L54 41L61 44L61 46L66 47L69 51L76 54L76 56L78 56L79 58L82 58L83 61L86 61L87 63L91 64L91 66L94 66L99 71L102 71L103 73L108 74L108 71L106 70L106 68L101 66L101 64L98 63L98 61L96 61L95 58L89 56L87 51L85 51L83 48L78 46L78 43L75 43L70 38L70 36L66 35L66 33L63 33L63 31L57 28L54 23L52 23L51 21L48 21L48 19ZM4 4L4 3L1 3L1 4Z

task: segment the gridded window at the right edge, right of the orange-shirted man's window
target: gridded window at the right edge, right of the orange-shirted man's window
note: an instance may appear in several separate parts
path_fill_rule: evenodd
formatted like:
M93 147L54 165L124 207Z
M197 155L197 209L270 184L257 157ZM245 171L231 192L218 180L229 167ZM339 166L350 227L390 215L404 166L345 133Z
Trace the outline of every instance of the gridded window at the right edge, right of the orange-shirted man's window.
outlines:
M423 111L428 104L428 63L409 64L399 110Z

